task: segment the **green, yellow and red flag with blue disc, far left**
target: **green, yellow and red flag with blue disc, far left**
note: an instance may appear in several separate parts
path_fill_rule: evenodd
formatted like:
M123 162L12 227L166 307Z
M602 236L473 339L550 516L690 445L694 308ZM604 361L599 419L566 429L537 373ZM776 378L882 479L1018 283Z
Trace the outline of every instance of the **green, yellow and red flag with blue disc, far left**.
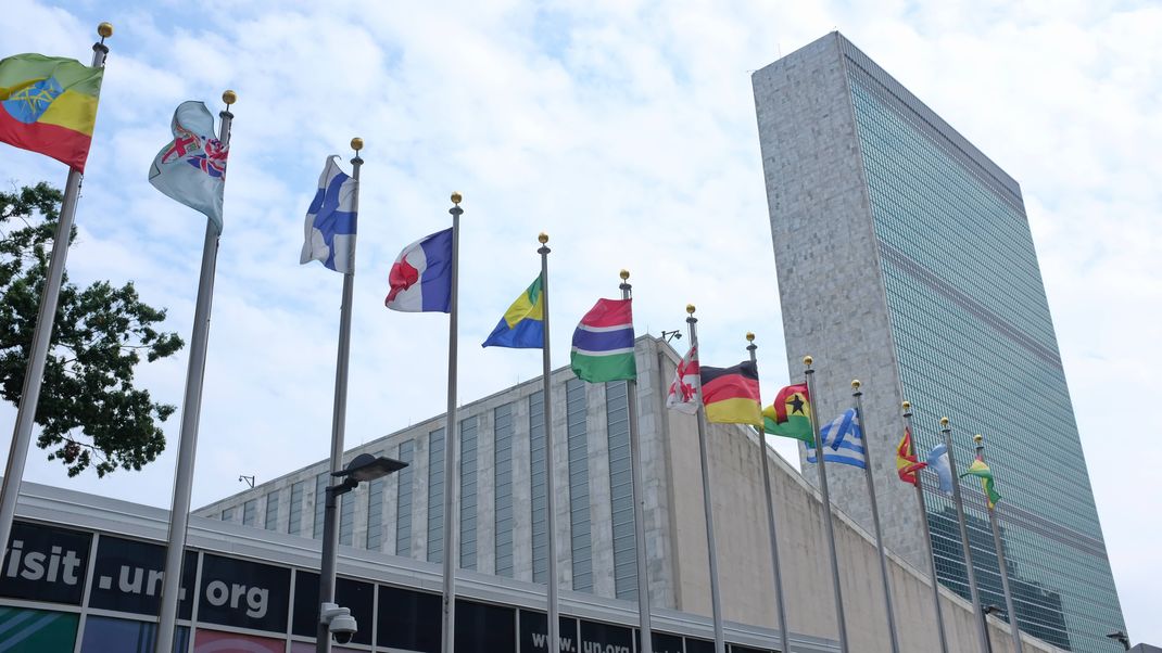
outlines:
M0 59L0 142L85 172L103 67L76 59Z

